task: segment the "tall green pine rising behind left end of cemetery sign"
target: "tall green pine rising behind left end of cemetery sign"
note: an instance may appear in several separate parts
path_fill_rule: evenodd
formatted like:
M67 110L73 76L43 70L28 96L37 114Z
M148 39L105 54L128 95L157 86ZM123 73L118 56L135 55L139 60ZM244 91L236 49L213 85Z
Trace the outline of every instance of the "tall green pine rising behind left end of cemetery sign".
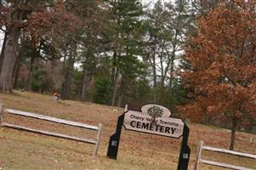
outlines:
M111 19L113 25L111 105L122 105L122 99L142 65L138 57L142 54L139 43L142 37L140 17L142 17L143 8L138 0L117 0L109 3L113 14Z

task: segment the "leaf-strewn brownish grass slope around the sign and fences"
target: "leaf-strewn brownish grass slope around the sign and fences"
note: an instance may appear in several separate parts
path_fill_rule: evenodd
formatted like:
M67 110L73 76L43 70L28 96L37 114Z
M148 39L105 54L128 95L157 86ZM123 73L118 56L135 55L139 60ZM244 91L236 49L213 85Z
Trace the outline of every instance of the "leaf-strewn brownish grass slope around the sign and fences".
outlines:
M122 108L71 100L55 103L48 95L17 91L14 94L0 94L0 102L9 109L31 111L92 125L103 123L99 156L92 156L93 144L3 128L0 137L0 161L4 169L176 169L177 167L181 140L126 131L124 128L117 161L106 157L108 140L115 131L117 116L122 114ZM78 137L95 136L95 133L84 129L21 116L5 114L3 120ZM228 130L194 123L189 124L189 127L191 128L189 169L193 169L199 140L203 140L206 145L228 149L230 144ZM251 136L252 134L248 133L237 133L235 150L256 154L256 136L253 136L254 141L250 144ZM203 151L202 156L256 169L256 161L247 158L208 151ZM200 167L200 169L220 169L202 164Z

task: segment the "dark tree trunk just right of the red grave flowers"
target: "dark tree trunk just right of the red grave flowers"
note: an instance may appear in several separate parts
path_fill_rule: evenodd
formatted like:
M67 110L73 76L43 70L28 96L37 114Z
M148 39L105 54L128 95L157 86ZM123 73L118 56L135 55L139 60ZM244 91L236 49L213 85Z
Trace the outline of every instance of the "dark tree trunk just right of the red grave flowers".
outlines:
M74 48L68 59L67 71L65 72L65 81L62 85L61 98L63 99L70 99L71 83L72 83L72 76L74 71L74 63L75 63L76 55L77 55L77 48Z

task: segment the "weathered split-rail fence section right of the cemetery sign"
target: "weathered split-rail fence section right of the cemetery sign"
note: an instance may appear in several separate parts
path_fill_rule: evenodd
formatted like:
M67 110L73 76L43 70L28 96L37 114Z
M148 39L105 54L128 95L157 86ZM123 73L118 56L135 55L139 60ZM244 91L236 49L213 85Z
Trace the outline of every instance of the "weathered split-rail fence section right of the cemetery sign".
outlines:
M213 148L213 147L210 147L210 146L205 146L205 145L203 145L203 142L200 141L200 143L198 145L198 148L197 148L196 164L195 164L194 170L198 169L199 163L205 163L205 164L213 165L213 166L216 166L216 167L227 167L227 168L230 168L230 169L237 169L237 170L253 170L252 168L248 168L248 167L241 167L241 166L231 165L231 164L228 164L228 163L221 163L221 162L218 162L218 161L209 161L209 160L202 159L202 150L210 150L210 151L214 151L214 152L221 152L221 153L230 154L230 155L233 155L233 156L242 156L242 157L247 157L247 158L251 158L251 159L256 160L255 155L242 153L242 152L238 152L238 151L225 150L225 149L219 149L219 148Z

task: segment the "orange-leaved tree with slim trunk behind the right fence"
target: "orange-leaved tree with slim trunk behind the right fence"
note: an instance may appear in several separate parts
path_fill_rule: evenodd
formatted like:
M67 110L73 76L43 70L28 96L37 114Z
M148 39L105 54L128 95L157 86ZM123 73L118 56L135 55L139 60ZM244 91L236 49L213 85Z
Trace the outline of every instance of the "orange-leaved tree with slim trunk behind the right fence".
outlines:
M225 0L199 17L185 60L191 103L181 111L230 122L234 150L237 127L256 119L256 2Z

